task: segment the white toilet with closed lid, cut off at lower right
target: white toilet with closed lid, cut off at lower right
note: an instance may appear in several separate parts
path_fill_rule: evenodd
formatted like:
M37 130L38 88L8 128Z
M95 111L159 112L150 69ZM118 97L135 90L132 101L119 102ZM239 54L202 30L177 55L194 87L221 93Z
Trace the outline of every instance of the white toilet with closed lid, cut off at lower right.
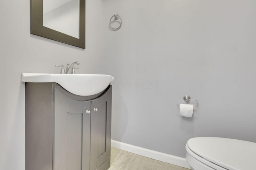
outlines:
M186 145L192 170L256 170L256 143L218 137L196 137Z

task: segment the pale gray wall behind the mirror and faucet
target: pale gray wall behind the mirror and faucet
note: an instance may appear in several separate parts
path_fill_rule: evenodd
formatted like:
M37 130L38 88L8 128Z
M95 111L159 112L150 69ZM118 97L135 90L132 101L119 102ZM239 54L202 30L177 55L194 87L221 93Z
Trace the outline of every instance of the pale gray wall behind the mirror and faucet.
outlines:
M77 73L102 73L102 11L101 0L86 0L84 50L30 35L30 0L0 1L0 170L25 169L21 73L58 73L55 64L73 61L81 63Z

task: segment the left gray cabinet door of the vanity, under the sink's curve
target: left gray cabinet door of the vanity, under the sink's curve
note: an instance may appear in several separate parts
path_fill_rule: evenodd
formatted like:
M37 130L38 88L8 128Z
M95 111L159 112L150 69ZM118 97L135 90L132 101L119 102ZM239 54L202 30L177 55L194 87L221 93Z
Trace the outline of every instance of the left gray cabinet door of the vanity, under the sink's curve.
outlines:
M90 105L54 89L54 170L90 169Z

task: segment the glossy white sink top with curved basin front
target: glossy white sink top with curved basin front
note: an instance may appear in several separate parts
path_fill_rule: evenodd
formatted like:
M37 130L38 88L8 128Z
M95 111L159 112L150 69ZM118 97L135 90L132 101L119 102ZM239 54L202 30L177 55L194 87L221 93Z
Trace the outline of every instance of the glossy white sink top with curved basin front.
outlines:
M22 73L22 82L60 84L68 92L79 96L91 96L105 90L114 77L104 74L44 74Z

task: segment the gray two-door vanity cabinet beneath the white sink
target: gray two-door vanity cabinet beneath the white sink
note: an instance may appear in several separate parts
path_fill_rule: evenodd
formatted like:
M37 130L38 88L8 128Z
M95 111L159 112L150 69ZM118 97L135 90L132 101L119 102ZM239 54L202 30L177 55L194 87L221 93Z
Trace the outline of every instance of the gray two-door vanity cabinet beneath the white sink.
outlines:
M55 82L26 82L25 88L26 170L110 167L110 84L89 96Z

